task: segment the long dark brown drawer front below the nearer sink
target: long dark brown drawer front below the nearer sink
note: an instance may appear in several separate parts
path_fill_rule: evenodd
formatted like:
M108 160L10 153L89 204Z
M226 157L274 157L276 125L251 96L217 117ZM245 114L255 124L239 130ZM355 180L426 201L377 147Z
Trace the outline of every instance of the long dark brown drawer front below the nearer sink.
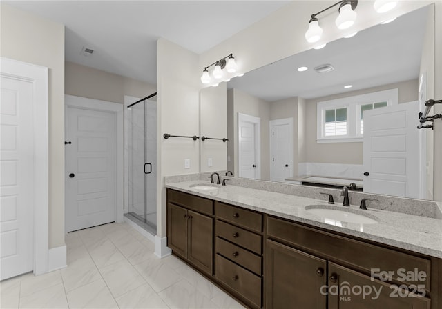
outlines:
M430 290L430 260L273 217L267 219L267 235L339 263L347 263L368 275L378 268L380 271L392 272L392 281L396 283L423 284L426 290ZM414 276L416 278L410 281L398 280L405 278L405 274L415 273L416 270L425 272L426 277Z

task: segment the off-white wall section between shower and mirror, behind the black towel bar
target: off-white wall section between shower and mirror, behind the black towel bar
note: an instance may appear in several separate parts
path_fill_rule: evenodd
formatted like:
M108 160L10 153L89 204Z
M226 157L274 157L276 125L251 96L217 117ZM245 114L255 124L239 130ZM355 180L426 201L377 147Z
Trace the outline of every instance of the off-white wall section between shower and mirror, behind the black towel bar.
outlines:
M157 103L157 235L166 237L164 176L200 171L200 141L162 137L200 133L198 55L166 39L157 41ZM190 168L184 168L184 159L190 159Z

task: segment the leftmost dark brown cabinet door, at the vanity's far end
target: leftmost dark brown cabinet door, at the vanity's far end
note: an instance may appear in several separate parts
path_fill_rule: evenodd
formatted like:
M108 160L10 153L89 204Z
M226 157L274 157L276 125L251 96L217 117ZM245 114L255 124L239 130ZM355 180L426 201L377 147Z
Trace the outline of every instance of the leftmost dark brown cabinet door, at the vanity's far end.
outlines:
M177 255L187 258L187 210L167 204L167 246Z

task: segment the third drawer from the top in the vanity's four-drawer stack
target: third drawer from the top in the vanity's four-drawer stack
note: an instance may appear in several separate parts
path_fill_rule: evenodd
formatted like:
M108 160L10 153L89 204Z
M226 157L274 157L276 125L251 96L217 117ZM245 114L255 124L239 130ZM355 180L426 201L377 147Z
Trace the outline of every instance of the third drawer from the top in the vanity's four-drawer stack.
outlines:
M247 250L242 249L239 246L229 243L220 237L216 237L215 244L216 253L219 253L223 257L234 261L235 263L244 266L256 275L261 275L261 259L259 255L255 255Z

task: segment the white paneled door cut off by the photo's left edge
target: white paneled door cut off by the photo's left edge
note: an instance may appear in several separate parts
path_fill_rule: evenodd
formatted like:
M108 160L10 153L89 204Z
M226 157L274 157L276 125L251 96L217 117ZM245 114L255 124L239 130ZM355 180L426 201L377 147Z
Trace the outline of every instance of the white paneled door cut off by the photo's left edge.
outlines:
M1 77L1 280L34 269L33 86Z

